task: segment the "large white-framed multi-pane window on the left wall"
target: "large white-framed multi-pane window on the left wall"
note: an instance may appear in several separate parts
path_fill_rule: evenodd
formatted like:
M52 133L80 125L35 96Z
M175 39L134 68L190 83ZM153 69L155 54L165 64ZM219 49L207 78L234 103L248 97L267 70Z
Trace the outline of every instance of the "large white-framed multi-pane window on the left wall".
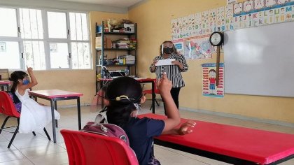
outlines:
M0 8L0 69L91 69L87 13Z

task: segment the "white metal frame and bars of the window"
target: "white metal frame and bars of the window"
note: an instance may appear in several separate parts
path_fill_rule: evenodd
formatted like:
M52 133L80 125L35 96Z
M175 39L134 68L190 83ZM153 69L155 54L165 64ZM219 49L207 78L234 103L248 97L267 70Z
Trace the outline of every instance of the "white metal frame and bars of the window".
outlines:
M27 66L25 66L25 41L43 41L44 43L44 52L45 52L45 69L35 69L36 71L62 71L62 70L92 70L93 69L93 58L92 58L92 44L91 44L91 34L90 34L90 13L86 11L73 11L73 10L59 10L59 9L45 9L45 8L27 8L27 9L34 9L34 10L41 10L41 17L42 17L42 25L43 25L43 39L33 39L33 38L22 38L21 31L20 31L20 8L22 7L9 7L9 6L0 6L0 8L11 8L15 9L16 12L16 20L17 20L17 27L18 29L18 36L17 37L9 37L9 36L0 36L0 41L13 41L18 42L19 47L19 58L20 58L20 69L25 70ZM66 38L49 38L49 27L48 27L48 12L56 12L56 13L65 13L66 15ZM82 13L86 15L86 23L87 23L87 41L85 40L72 40L71 39L71 31L70 31L70 20L69 20L69 13ZM83 39L83 38L82 38ZM68 45L68 62L69 68L51 68L51 60L50 60L50 43L67 43ZM89 46L89 59L90 59L90 68L87 69L73 69L73 62L72 62L72 52L71 52L71 43L87 43ZM10 69L10 70L18 70L18 69Z

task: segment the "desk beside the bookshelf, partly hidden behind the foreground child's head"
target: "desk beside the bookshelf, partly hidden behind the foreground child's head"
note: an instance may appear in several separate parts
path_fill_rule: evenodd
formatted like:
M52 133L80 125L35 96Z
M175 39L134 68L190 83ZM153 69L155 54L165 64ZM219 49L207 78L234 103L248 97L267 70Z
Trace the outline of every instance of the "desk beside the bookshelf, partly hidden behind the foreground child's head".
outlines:
M135 78L140 83L151 83L152 89L152 113L155 113L155 78ZM100 89L106 85L107 82L113 80L112 78L99 78ZM101 103L102 109L104 108L104 103Z

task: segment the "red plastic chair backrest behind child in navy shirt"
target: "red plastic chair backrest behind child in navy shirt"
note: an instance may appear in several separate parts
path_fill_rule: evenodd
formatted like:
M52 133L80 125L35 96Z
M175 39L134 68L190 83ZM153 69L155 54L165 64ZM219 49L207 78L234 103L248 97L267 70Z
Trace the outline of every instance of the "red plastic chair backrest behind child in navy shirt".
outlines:
M83 131L60 131L64 138L69 165L137 165L132 149L119 138Z

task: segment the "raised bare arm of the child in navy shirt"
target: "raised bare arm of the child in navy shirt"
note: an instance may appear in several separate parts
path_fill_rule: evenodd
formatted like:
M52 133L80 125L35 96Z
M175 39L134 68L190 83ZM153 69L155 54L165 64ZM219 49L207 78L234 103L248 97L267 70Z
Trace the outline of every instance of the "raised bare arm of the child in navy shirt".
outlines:
M172 82L167 79L167 73L164 73L161 80L158 80L158 87L163 101L165 101L165 108L167 110L167 119L164 120L165 128L162 134L171 131L174 127L178 126L181 122L181 117L178 108L172 99L171 89Z

